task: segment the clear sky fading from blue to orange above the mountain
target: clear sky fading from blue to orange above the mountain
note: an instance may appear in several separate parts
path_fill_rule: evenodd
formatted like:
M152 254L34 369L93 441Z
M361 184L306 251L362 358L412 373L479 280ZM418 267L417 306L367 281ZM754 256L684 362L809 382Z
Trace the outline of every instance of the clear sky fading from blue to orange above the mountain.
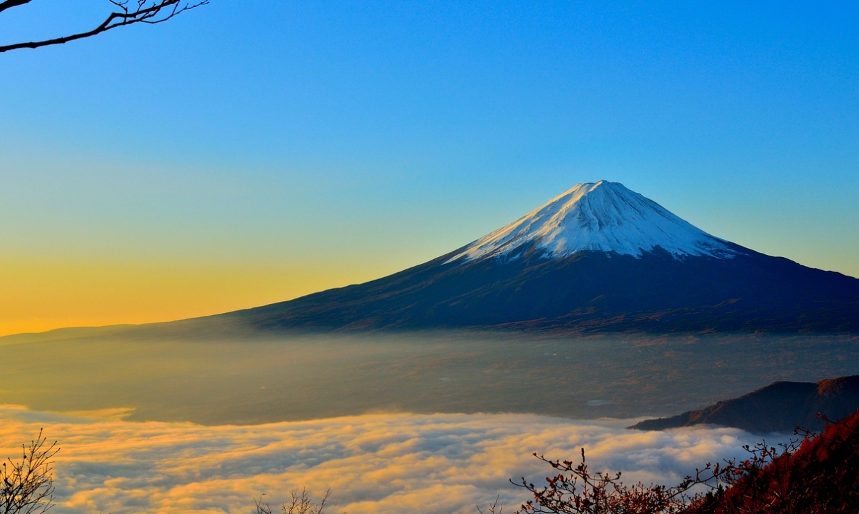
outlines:
M0 76L0 334L366 281L600 178L859 275L857 3L211 0Z

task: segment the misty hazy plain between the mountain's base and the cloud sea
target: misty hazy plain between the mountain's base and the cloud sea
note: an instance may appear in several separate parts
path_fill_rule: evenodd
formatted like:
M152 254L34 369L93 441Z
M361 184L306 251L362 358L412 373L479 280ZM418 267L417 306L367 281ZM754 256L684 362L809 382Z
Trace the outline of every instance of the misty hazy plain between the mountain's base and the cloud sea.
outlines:
M776 380L859 372L859 348L846 336L229 339L115 331L0 339L0 360L15 362L0 376L0 403L124 408L129 420L210 425L368 412L631 418L700 408Z

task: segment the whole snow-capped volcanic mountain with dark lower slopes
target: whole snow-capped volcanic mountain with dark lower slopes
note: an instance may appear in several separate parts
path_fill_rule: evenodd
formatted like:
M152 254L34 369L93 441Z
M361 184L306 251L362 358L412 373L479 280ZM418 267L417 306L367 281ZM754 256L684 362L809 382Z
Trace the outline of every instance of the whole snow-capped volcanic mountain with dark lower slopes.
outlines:
M859 280L716 238L600 181L428 263L220 317L275 331L855 332Z

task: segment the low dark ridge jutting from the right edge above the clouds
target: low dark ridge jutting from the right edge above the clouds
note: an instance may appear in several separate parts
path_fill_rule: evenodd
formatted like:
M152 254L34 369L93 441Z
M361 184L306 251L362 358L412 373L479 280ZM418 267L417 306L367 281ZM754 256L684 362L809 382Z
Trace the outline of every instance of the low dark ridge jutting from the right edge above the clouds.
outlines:
M796 426L819 431L825 425L817 416L838 420L859 408L859 375L811 382L776 382L702 410L658 420L644 420L630 428L664 430L678 426L711 424L734 426L749 432L790 432Z

